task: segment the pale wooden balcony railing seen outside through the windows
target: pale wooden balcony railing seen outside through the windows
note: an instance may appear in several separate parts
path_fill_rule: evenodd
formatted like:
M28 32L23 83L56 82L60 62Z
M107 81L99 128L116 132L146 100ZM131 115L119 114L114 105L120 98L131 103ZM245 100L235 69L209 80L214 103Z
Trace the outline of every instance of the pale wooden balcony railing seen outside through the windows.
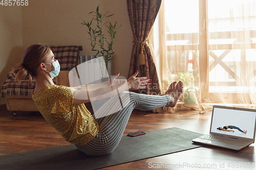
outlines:
M209 72L214 70L217 65L221 66L222 71L220 74L215 76L221 76L219 78L213 78L209 76L209 90L211 92L220 92L221 90L225 92L244 92L246 90L252 90L251 87L243 87L239 85L237 82L240 82L240 72L236 72L233 70L233 53L236 52L235 61L236 62L256 62L256 30L250 30L248 33L250 34L250 39L248 39L246 43L240 39L240 37L244 37L240 34L243 34L243 31L225 31L225 32L210 32L208 33L208 53L209 53ZM172 54L172 51L175 52L177 49L182 49L184 56L184 60L187 60L187 55L189 52L193 52L193 55L198 54L199 49L199 34L198 33L185 33L185 34L166 34L166 46L169 54ZM179 39L179 40L177 40ZM232 48L232 46L237 48L236 50ZM239 46L242 46L242 51L239 49ZM243 51L246 49L249 50L252 55L246 56L246 52ZM240 51L240 52L239 52ZM231 53L230 53L231 52ZM240 55L240 54L241 55ZM255 53L255 55L253 55ZM238 55L239 54L239 55ZM200 55L199 55L200 56ZM230 57L232 56L232 59ZM253 56L253 57L252 57ZM198 57L198 56L194 56ZM237 66L239 67L239 66ZM186 68L184 68L186 71ZM211 74L211 73L210 73ZM254 75L256 75L256 68L249 73L250 77L248 77L249 81L254 82L256 86L256 80L254 80ZM216 81L218 80L218 81ZM235 80L237 80L235 82ZM223 86L223 88L217 88L218 86ZM256 88L254 89L256 92ZM253 90L253 91L254 91Z

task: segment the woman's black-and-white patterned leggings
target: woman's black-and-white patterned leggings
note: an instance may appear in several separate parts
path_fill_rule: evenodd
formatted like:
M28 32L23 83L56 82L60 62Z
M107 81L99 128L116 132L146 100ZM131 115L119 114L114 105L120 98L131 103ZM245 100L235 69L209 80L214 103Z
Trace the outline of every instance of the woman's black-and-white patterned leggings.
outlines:
M120 96L114 95L94 113L100 117L96 119L99 125L98 134L87 144L76 147L87 155L110 154L120 142L133 109L152 110L169 103L167 95L147 95L127 91L120 93ZM106 113L112 114L104 116Z

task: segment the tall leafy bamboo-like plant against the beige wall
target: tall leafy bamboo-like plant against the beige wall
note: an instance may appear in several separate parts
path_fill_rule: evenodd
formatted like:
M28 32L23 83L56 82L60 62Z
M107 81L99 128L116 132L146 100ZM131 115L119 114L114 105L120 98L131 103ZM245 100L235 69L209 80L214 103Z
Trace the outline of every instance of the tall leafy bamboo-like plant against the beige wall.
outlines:
M82 25L86 25L87 28L89 29L88 34L89 34L89 39L91 40L91 46L92 46L92 51L96 52L95 56L101 54L106 70L108 70L108 64L109 61L112 59L114 50L114 39L116 36L116 30L121 27L117 27L117 21L115 24L112 24L109 20L104 21L105 18L111 17L114 14L107 15L110 11L106 12L105 14L101 14L99 12L99 6L96 8L96 12L90 12L89 14L93 15L93 18L90 22L85 22L81 23ZM95 23L95 24L94 24ZM109 33L109 36L106 36L106 34L103 32L103 27L106 26L107 31ZM105 75L105 73L102 73L102 75Z

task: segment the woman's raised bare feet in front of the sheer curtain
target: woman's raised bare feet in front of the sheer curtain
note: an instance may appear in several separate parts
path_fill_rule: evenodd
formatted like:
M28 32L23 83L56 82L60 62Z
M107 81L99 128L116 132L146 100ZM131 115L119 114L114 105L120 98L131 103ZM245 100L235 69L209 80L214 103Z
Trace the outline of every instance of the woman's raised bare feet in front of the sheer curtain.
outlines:
M169 90L167 90L165 93L170 98L170 104L167 106L175 107L181 94L183 93L184 84L183 82L179 81L173 89L171 89L170 87L168 88Z

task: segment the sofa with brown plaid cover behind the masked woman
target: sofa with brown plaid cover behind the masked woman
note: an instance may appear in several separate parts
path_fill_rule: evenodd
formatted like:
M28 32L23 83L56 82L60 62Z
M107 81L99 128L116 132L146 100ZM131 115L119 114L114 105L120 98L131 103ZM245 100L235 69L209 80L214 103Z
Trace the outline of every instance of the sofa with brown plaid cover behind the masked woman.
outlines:
M79 64L79 52L82 50L82 46L51 46L51 50L61 68L59 75L54 78L54 83L70 86L69 70ZM28 80L15 82L14 78L15 74L8 74L8 80L3 85L1 92L2 97L6 98L7 110L12 111L13 115L16 115L17 111L38 111L31 96L35 81L32 81L33 87L29 87Z

